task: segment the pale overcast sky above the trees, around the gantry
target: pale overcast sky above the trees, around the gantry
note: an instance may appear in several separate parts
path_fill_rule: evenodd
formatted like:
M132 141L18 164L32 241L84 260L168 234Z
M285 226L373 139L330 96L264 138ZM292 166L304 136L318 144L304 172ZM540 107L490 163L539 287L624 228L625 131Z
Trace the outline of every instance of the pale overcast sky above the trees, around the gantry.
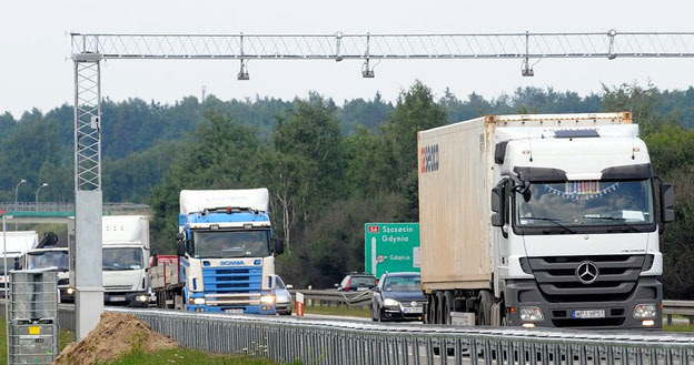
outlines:
M690 1L2 1L0 112L16 116L72 102L68 32L334 33L512 31L694 31ZM517 87L554 87L581 94L601 83L652 80L662 89L692 82L694 60L543 60L534 78L520 61L384 61L376 78L360 77L360 62L255 61L250 81L237 81L238 61L111 60L102 68L102 94L172 102L185 95L220 99L259 94L291 99L316 90L334 98L389 100L419 79L440 95L485 97Z

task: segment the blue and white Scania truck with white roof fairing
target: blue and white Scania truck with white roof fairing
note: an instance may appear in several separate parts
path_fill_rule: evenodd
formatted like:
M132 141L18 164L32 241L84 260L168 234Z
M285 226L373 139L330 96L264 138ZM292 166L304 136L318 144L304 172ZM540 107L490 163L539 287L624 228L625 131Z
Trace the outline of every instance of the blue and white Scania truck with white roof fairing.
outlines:
M275 256L267 189L184 190L178 263L153 262L159 307L275 314Z

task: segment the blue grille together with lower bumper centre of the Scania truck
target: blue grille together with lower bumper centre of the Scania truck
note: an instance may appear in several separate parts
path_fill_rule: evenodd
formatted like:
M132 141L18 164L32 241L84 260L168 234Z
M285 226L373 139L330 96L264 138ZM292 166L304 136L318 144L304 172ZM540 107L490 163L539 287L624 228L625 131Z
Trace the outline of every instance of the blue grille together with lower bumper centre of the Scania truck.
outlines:
M205 267L202 268L205 292L209 295L208 305L254 305L260 302L262 268Z

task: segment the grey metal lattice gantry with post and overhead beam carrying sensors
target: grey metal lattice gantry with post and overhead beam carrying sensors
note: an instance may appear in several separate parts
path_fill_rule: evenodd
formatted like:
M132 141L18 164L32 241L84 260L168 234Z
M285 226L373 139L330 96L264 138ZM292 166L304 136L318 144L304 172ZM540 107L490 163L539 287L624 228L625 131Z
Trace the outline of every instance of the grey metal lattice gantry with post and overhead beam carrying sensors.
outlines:
M238 60L248 80L248 60L694 58L694 32L517 32L468 34L106 34L72 33L75 61L76 283L99 302L101 287L101 60ZM90 215L98 215L96 216ZM80 267L82 267L80 270ZM81 288L80 288L81 287ZM99 294L101 293L101 294ZM91 296L90 296L91 295ZM87 301L81 301L87 303ZM100 306L78 305L78 337L98 323ZM87 315L85 312L96 313ZM83 318L82 318L83 317ZM82 320L80 320L82 318ZM83 326L79 323L82 323ZM81 328L81 329L80 329ZM86 331L86 332L85 332Z

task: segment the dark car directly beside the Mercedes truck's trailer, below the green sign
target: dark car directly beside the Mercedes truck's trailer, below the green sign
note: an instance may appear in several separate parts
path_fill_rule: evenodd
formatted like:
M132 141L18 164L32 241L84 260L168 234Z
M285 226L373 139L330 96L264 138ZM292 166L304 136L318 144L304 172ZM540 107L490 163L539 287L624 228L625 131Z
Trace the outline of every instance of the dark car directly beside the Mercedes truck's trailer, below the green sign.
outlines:
M426 297L419 273L389 273L380 276L373 291L373 321L422 321Z

